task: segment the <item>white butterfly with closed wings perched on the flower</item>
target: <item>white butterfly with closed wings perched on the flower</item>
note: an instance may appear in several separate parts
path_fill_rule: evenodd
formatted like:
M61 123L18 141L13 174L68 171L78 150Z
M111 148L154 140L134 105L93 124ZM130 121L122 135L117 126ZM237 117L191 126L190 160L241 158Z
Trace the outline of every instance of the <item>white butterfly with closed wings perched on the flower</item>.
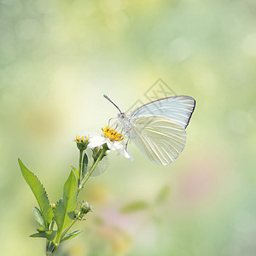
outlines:
M119 109L118 125L149 160L166 166L185 147L185 129L194 109L195 99L190 96L166 97L137 108L131 115Z

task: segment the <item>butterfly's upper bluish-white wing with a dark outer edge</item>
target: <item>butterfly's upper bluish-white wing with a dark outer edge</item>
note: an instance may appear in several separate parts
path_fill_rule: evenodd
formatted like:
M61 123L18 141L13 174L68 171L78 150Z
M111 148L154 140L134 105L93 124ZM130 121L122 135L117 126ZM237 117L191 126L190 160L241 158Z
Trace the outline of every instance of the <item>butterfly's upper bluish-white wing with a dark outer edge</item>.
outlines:
M195 99L190 96L166 97L149 102L131 113L131 119L141 115L156 115L172 119L184 129L189 125L189 119L195 109Z

